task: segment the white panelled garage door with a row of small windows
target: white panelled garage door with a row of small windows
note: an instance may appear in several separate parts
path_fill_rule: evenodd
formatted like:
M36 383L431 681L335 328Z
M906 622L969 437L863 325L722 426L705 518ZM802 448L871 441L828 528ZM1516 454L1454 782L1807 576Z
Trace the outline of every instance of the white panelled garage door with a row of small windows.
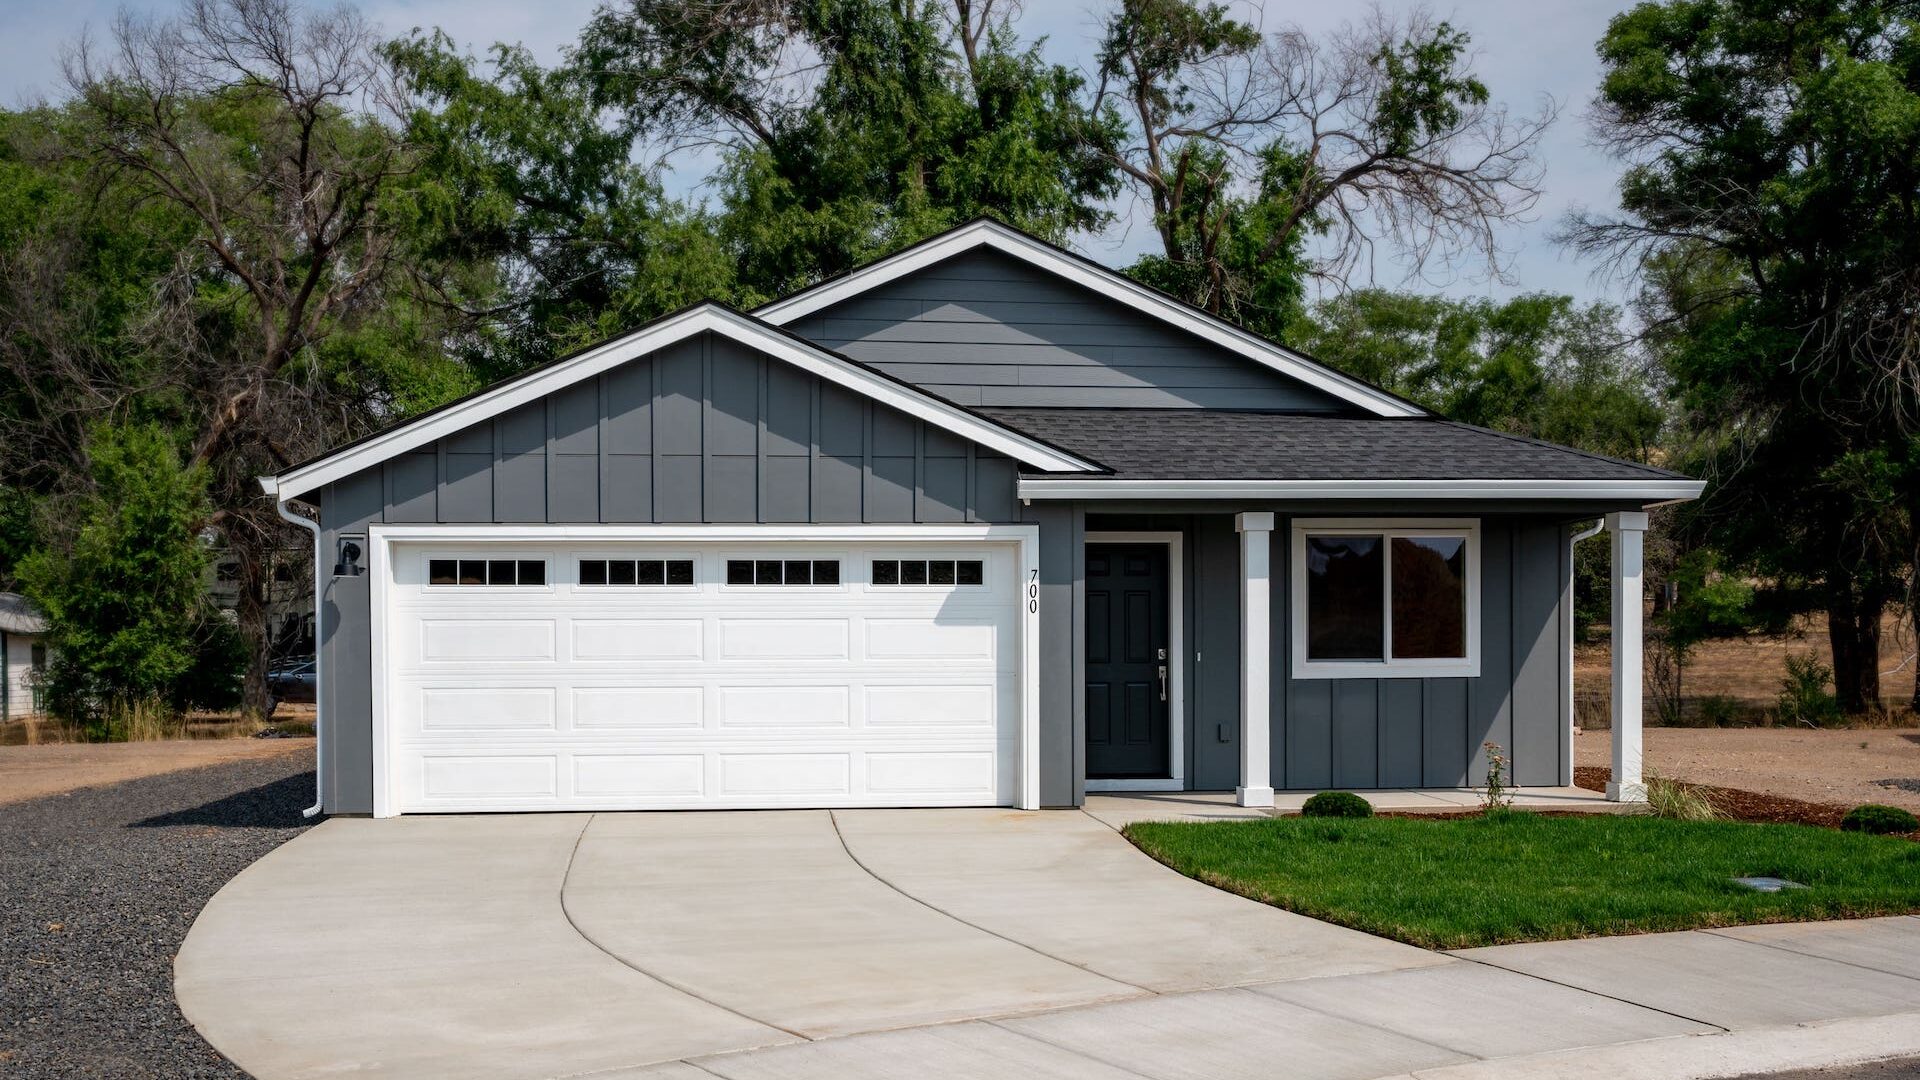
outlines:
M396 542L392 809L1018 801L1012 544Z

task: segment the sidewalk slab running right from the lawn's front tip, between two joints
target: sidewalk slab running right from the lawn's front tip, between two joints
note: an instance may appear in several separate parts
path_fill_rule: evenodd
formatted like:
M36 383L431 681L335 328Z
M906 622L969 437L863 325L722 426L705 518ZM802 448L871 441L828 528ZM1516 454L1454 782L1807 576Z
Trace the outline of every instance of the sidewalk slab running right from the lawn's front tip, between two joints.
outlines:
M1920 980L1720 934L1638 934L1455 953L1722 1028L1920 1009Z

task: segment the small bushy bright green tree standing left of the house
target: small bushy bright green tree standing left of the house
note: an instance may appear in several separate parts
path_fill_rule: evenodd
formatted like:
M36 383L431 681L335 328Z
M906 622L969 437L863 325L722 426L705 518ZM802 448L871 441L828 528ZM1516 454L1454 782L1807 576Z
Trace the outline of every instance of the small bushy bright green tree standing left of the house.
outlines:
M205 603L205 467L156 425L102 427L88 457L90 486L48 515L17 573L48 619L52 711L111 734L179 703L221 617Z

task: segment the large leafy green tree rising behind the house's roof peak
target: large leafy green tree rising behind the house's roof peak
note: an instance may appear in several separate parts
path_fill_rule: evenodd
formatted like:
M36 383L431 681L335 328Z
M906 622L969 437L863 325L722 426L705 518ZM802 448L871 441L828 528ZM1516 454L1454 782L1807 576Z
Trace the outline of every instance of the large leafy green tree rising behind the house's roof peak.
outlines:
M1066 240L1117 190L1079 75L991 0L620 0L574 67L636 136L722 148L716 225L749 300L979 215Z

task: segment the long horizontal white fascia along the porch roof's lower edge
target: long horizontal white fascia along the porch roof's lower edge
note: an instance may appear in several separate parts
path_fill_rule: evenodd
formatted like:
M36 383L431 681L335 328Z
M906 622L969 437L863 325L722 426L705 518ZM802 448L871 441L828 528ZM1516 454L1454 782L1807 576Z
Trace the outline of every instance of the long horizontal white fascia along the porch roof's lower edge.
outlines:
M1699 498L1705 480L1020 480L1023 500L1640 500Z

